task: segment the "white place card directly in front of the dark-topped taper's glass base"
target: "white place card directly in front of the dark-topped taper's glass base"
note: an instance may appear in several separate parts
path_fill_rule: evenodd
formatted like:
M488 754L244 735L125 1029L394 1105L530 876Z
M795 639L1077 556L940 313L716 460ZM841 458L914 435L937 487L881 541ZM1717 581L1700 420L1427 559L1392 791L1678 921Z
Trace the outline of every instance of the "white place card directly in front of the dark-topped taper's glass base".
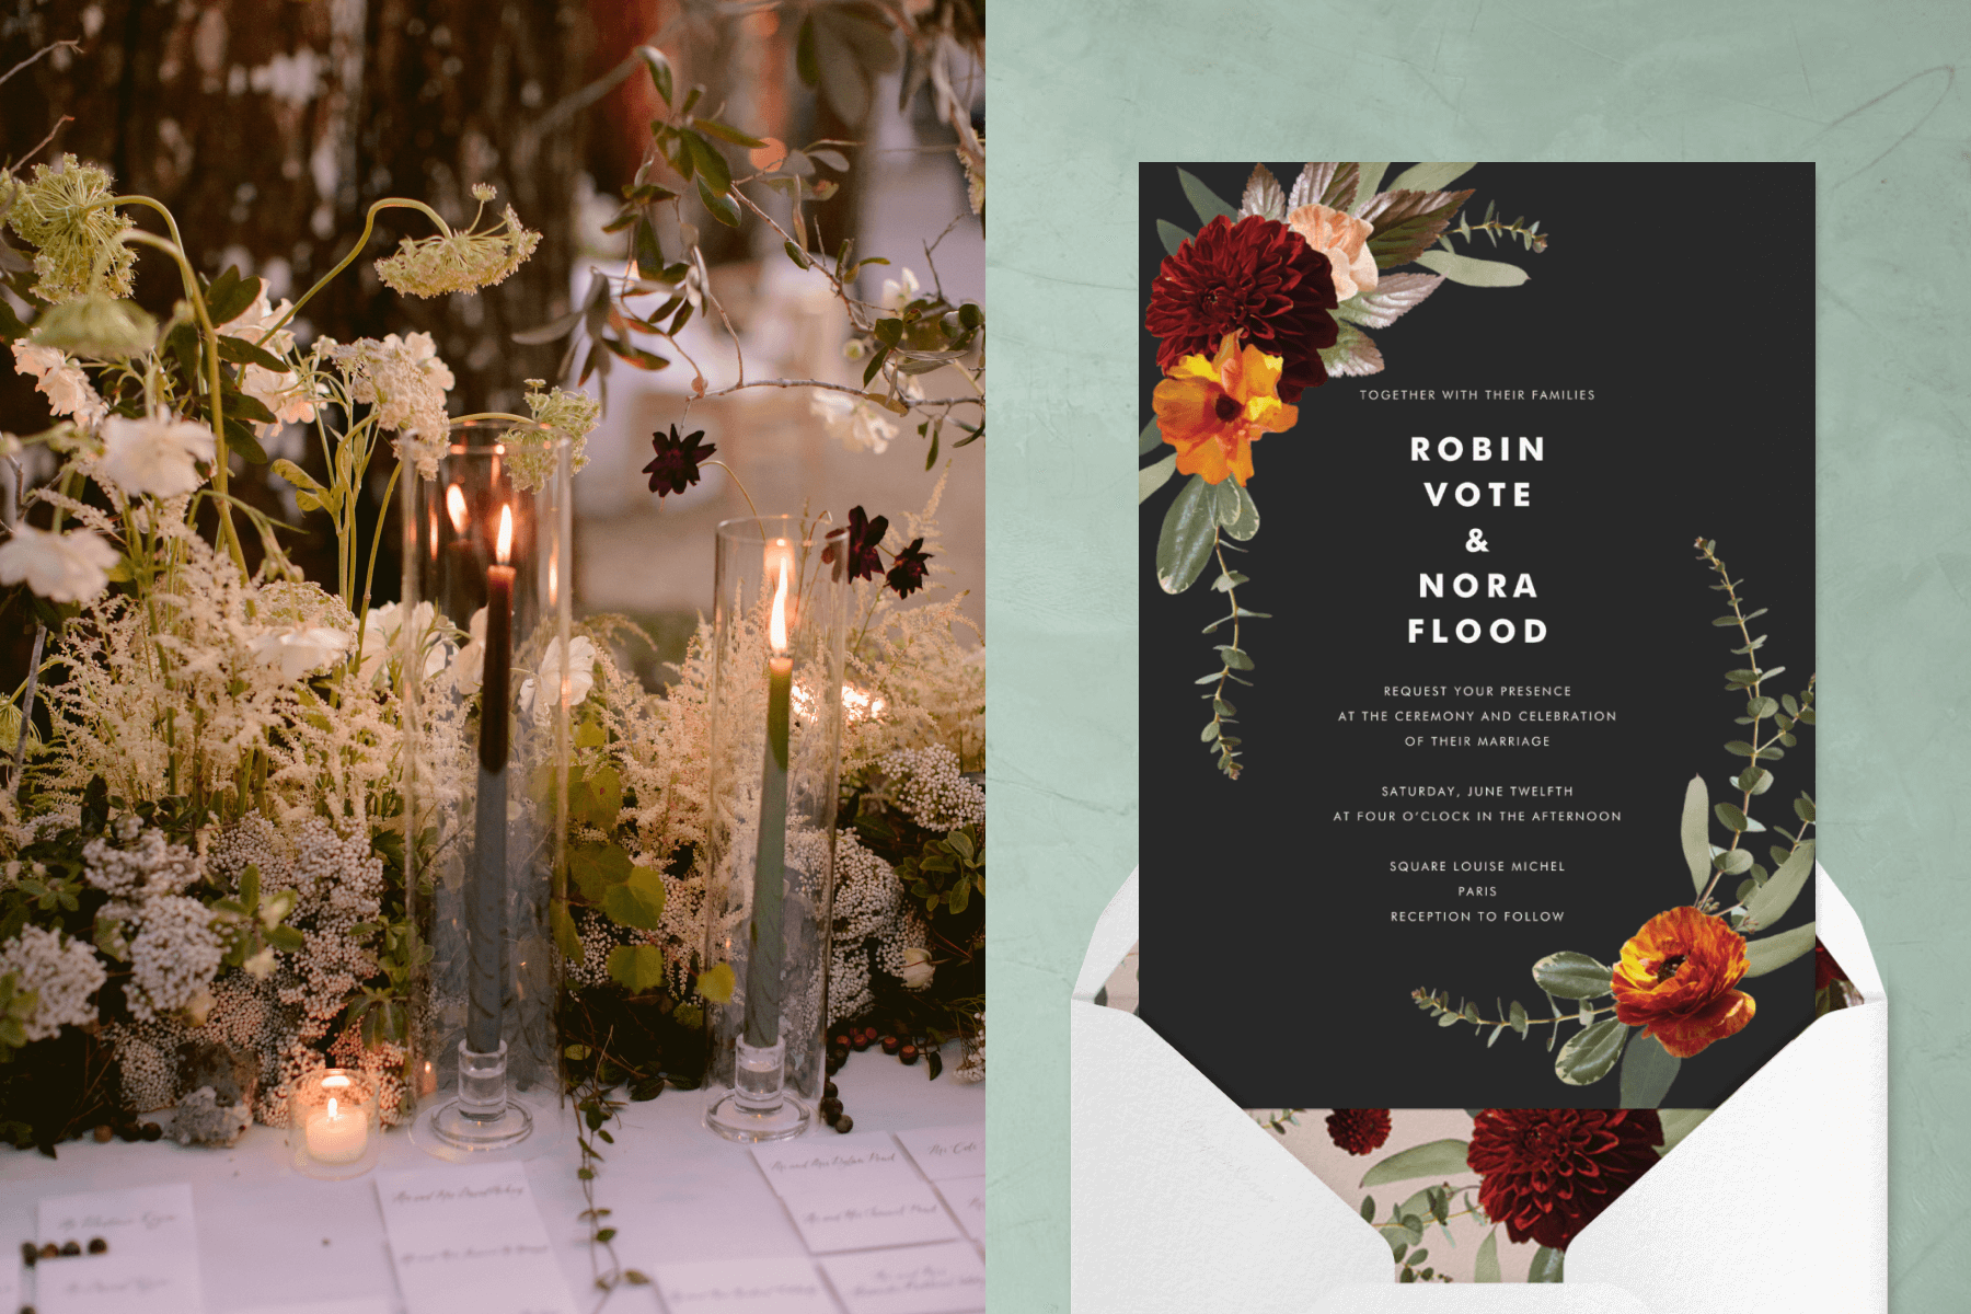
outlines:
M410 1314L576 1314L522 1164L378 1172L376 1200Z

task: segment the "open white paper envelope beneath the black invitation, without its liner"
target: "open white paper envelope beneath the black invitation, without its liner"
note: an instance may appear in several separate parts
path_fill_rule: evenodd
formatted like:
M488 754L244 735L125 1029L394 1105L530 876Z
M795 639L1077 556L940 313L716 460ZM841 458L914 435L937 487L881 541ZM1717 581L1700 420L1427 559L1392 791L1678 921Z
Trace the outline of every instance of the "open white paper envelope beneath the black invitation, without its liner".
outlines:
M1561 1284L1397 1284L1390 1247L1129 1013L1137 940L1096 922L1072 1013L1074 1314L1807 1314L1888 1308L1888 1003L1815 867L1821 944L1863 1003L1815 1020L1567 1247Z

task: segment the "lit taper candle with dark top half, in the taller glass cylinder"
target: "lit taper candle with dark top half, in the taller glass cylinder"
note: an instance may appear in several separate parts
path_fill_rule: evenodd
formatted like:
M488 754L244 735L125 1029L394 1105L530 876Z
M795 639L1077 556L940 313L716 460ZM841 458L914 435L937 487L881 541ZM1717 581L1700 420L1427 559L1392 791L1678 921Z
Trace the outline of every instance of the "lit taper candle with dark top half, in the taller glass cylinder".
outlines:
M479 804L473 888L465 900L465 1048L491 1054L501 1032L501 959L507 940L507 686L512 672L512 508L499 508L497 565L487 567L487 650L479 684Z

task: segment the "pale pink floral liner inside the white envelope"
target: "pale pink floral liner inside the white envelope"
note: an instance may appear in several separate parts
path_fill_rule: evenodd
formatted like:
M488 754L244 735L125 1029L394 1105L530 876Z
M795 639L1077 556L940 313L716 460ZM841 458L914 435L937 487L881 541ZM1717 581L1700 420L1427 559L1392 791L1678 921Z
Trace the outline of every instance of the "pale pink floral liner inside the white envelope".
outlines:
M1137 948L1096 995L1135 1011ZM1813 1015L1861 1003L1813 946ZM1567 1245L1711 1109L1246 1109L1390 1243L1397 1282L1559 1282Z

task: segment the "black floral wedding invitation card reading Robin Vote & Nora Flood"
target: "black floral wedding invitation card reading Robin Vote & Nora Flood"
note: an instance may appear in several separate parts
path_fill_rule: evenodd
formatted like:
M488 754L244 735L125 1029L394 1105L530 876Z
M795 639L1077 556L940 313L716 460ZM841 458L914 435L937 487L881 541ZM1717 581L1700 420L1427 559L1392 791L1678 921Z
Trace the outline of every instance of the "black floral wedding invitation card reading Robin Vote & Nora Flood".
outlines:
M1813 1017L1813 169L1141 165L1141 1009L1244 1107Z

